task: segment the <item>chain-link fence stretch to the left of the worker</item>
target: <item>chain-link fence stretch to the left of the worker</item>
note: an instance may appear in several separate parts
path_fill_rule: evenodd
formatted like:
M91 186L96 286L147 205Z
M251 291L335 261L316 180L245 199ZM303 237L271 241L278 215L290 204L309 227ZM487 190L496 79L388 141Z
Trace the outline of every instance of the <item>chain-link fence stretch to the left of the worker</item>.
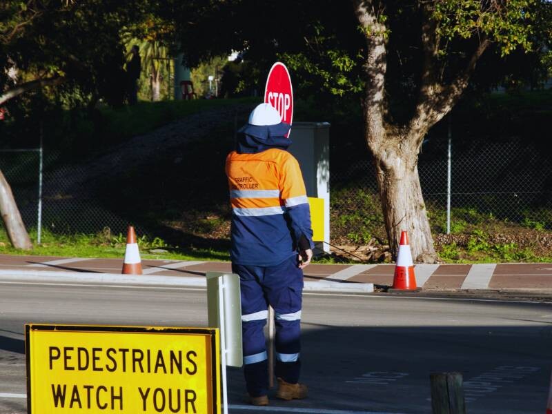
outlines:
M128 219L95 196L91 188L97 183L85 167L67 164L59 152L45 150L41 168L40 157L39 149L0 150L0 169L28 230L68 235L108 227L112 233L126 233Z

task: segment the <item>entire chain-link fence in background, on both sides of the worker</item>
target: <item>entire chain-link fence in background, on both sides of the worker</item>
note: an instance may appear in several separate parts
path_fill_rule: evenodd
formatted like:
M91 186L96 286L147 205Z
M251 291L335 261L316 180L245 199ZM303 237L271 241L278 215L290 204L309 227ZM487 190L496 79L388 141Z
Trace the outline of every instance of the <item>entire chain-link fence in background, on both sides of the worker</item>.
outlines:
M451 231L465 221L500 219L531 228L552 228L552 155L523 141L452 141L450 195L448 142L424 142L418 164L433 230L446 233L447 198ZM88 170L87 170L88 168ZM87 168L67 164L57 152L0 150L0 169L12 186L27 228L59 234L98 233L109 227L125 233L125 213L93 190L103 184ZM41 200L39 182L42 174ZM107 177L108 179L108 177ZM105 193L105 192L104 192ZM41 202L40 202L41 201ZM385 238L381 205L366 148L333 148L331 154L331 234L359 244ZM147 234L147 229L138 229ZM380 232L380 233L378 233Z

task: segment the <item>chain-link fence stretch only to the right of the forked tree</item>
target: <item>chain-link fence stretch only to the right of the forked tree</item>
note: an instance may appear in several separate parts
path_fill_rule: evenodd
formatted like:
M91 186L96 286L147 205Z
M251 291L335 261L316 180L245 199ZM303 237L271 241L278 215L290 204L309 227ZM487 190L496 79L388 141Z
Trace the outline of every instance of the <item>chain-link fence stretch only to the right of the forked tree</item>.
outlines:
M420 157L422 191L434 209L446 208L446 144L426 145ZM536 144L519 140L453 144L450 181L452 215L471 212L552 228L552 157Z

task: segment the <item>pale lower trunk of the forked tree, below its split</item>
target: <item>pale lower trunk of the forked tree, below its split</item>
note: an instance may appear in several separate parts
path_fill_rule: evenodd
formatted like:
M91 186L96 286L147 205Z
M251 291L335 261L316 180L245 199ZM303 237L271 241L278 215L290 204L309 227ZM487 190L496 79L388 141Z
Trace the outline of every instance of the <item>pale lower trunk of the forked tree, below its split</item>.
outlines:
M395 255L401 232L406 230L413 259L433 263L437 254L420 186L417 150L405 141L387 135L386 145L373 152L387 237Z

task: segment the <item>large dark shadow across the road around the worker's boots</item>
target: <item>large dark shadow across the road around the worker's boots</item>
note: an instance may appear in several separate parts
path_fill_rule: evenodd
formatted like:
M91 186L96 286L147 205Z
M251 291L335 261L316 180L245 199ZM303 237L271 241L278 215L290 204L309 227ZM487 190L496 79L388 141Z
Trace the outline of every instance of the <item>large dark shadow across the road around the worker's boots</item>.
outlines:
M464 377L473 414L539 413L546 401L548 324L304 328L301 381L309 398L290 404L270 390L279 410L429 413L430 373L453 371ZM230 404L246 405L240 368L228 368L228 384Z

